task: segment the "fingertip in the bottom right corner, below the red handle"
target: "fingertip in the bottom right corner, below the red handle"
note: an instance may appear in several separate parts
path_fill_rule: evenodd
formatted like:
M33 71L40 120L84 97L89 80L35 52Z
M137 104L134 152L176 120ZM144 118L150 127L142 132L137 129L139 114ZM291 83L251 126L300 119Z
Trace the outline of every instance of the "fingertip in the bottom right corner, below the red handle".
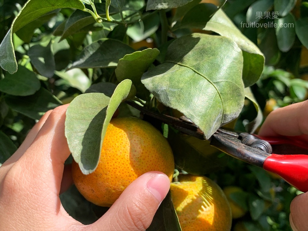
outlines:
M290 225L294 231L308 230L308 192L295 197L290 205Z

